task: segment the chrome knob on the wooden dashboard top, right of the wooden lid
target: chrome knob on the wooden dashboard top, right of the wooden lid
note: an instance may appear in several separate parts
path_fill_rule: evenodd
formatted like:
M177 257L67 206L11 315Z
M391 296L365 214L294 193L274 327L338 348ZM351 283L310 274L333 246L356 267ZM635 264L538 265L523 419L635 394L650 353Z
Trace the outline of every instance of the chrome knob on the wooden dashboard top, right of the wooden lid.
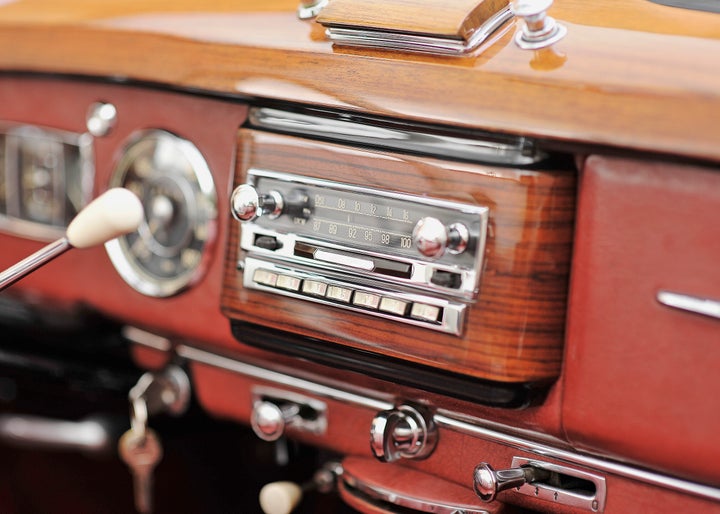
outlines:
M515 44L523 50L539 50L560 41L567 34L560 25L547 15L553 0L513 0L510 9L515 16L525 20L525 25L515 35Z

